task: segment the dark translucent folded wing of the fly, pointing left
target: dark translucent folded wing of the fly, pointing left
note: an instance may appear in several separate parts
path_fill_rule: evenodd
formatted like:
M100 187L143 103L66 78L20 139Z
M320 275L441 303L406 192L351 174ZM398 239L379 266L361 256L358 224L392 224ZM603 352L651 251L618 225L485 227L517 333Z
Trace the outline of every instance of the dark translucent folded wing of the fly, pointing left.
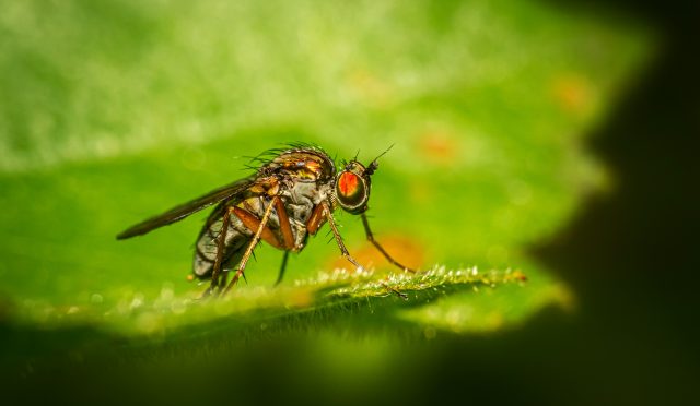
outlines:
M238 200L243 200L245 198L249 198L256 194L261 194L259 192L256 193L253 191L248 191L248 189L254 184L254 182L255 182L255 177L249 177L249 178L235 181L231 184L226 184L225 187L212 190L211 192L205 194L201 198L180 204L176 207L168 210L163 214L151 217L137 225L133 225L127 228L126 230L121 231L117 236L117 239L124 240L127 238L144 235L159 227L167 226L168 224L179 222L180 219L189 216L190 214L197 213L202 208L207 208L212 204L215 204L232 198L236 198L236 195L237 198L240 198Z

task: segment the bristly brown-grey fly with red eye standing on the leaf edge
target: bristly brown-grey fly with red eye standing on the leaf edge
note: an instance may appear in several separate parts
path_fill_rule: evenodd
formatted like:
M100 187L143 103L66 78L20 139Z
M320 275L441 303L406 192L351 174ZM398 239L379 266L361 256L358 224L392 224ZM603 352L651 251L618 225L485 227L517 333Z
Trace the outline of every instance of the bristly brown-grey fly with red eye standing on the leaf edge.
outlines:
M338 231L332 213L339 206L360 215L368 240L388 262L413 272L394 260L370 229L365 213L378 157L365 166L355 156L337 170L334 160L317 146L293 144L271 150L256 158L261 165L255 175L129 227L117 239L144 235L215 204L197 237L192 273L199 279L211 280L203 296L225 295L245 276L246 264L260 240L284 251L279 283L289 253L302 251L308 236L318 232L325 223L342 256L361 268ZM226 284L229 274L233 277Z

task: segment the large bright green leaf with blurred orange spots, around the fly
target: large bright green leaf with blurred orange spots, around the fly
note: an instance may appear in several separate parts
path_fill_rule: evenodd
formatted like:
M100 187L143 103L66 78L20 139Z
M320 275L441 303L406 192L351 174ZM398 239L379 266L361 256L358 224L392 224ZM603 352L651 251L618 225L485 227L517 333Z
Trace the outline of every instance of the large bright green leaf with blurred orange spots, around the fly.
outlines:
M269 373L262 361L325 371L328 393L358 379L382 387L405 357L421 370L475 335L523 329L545 308L564 323L575 318L575 286L529 248L552 240L593 193L615 190L585 136L656 49L653 29L621 14L539 1L28 0L2 9L8 375L28 385L117 365L143 374L136 389L150 393L149 377L183 365L226 374L225 359L242 362L244 375L242 365ZM203 286L186 276L206 213L114 239L247 176L247 157L298 141L338 159L359 151L363 162L395 145L373 178L380 241L421 270L478 268L494 284L416 285L406 302L378 290L322 300L337 288L324 275L347 266L322 234L292 256L280 288L271 285L281 252L264 247L231 300L199 303ZM357 218L339 220L350 251L376 266L374 279L394 271ZM495 283L512 272L527 282ZM289 359L290 348L308 357ZM407 382L418 379L409 371ZM299 375L277 379L305 387Z

